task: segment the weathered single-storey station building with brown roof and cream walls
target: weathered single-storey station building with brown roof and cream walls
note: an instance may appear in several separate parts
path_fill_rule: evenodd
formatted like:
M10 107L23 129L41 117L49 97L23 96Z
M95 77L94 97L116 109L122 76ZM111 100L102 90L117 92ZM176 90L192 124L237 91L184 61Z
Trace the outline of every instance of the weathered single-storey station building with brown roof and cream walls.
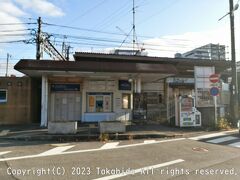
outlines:
M74 59L22 59L14 67L40 83L36 86L41 87L41 126L49 121L176 125L178 97L196 96L196 67L203 72L213 69L210 73L221 74L224 81L230 68L230 61L101 53L76 52ZM207 116L212 97L209 89L200 90L196 105L202 112L202 125L208 126L213 121ZM226 97L228 93L220 94L219 107L229 104Z

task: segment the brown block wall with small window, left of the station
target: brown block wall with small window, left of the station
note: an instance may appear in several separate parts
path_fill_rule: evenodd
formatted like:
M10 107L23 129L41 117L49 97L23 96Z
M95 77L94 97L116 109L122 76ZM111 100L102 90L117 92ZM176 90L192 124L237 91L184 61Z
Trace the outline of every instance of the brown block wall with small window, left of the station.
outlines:
M0 77L0 89L7 90L7 102L0 103L0 124L31 122L31 79Z

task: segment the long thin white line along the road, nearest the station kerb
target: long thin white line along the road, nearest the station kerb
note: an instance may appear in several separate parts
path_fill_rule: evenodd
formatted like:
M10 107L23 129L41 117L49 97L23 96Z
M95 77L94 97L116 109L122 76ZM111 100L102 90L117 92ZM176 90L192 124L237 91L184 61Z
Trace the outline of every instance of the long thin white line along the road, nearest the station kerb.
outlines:
M143 145L149 145L149 144L160 144L160 143L166 143L166 142L174 142L174 141L182 141L186 138L177 138L177 139L168 139L168 140L162 140L162 141L156 141L153 143L139 143L139 144L129 144L129 145L122 145L117 146L114 149L123 149L123 148L129 148L129 147L135 147L135 146L143 146ZM20 160L20 159L28 159L28 158L36 158L36 157L46 157L46 156L55 156L55 155L65 155L65 154L76 154L76 153L87 153L87 152L96 152L96 151L107 151L109 149L86 149L86 150L77 150L77 151L67 151L67 152L61 152L58 154L35 154L35 155L29 155L29 156L19 156L19 157L12 157L12 158L2 158L0 159L0 162L3 161L12 161L12 160Z

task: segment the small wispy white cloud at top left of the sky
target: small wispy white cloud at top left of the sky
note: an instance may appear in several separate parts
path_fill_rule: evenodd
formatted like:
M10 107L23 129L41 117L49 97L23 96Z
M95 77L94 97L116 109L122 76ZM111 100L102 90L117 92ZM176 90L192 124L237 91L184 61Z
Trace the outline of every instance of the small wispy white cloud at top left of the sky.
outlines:
M31 9L36 13L47 16L64 16L64 12L48 0L15 0L24 9Z

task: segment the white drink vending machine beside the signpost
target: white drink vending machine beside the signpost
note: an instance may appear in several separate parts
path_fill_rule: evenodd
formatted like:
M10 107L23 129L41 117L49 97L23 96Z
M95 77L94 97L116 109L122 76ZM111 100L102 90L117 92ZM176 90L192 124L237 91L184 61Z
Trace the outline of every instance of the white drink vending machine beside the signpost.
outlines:
M201 112L195 106L195 98L192 96L179 96L178 124L180 127L201 126Z

